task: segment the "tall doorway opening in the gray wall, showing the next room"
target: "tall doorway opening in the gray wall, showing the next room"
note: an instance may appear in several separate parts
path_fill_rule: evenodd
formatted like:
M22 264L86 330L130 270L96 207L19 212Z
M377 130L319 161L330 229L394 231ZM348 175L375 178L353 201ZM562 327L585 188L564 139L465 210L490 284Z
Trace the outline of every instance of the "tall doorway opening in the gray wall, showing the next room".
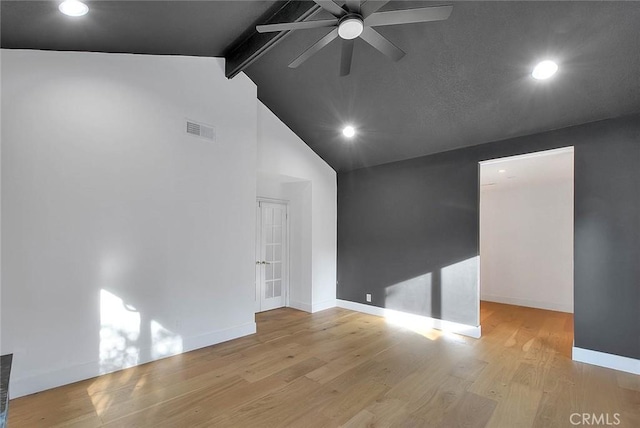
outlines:
M566 147L480 162L481 313L554 311L573 335L573 158Z

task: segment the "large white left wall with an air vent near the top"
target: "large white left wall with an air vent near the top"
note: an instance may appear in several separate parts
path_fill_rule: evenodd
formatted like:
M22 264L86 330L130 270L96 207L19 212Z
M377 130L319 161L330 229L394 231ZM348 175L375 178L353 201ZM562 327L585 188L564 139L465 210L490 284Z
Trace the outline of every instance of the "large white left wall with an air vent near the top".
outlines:
M2 51L13 397L255 331L256 88L223 68ZM217 141L186 135L185 118L215 125ZM335 263L317 275L331 282Z

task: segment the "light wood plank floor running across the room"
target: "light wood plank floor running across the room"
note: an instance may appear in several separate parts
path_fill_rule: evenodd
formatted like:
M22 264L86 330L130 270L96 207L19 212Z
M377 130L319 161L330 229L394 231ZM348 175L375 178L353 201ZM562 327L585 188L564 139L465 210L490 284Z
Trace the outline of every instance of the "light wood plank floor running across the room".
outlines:
M572 362L571 315L481 317L475 340L278 309L255 335L12 400L9 427L640 427L640 377Z

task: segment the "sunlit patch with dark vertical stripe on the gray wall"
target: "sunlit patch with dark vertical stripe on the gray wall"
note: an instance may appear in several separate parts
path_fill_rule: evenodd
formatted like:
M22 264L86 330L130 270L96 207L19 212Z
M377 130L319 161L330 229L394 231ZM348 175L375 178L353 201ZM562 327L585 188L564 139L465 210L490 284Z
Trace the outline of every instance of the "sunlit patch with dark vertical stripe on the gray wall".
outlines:
M478 256L470 257L386 286L383 307L469 324L467 306L461 309L460 304L465 301L473 303L475 294L469 285L477 283L478 263Z

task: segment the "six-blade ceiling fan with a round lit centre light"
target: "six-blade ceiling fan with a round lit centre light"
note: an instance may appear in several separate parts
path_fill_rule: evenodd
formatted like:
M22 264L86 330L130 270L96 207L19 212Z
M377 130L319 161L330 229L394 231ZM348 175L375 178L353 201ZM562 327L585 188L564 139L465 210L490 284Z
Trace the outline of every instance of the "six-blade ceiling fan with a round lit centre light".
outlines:
M316 21L285 22L281 24L266 24L256 26L259 33L273 31L307 30L310 28L333 27L333 30L299 57L289 64L289 68L296 68L311 58L320 49L327 46L336 38L342 39L342 58L340 61L340 75L346 76L351 72L351 60L353 57L353 45L355 39L360 37L365 42L388 56L398 61L405 53L386 37L377 32L373 27L382 25L410 24L415 22L444 21L449 18L453 6L432 6L418 9L391 10L378 12L389 0L364 1L346 0L344 6L340 6L332 0L313 0L324 10L331 13L334 18Z

